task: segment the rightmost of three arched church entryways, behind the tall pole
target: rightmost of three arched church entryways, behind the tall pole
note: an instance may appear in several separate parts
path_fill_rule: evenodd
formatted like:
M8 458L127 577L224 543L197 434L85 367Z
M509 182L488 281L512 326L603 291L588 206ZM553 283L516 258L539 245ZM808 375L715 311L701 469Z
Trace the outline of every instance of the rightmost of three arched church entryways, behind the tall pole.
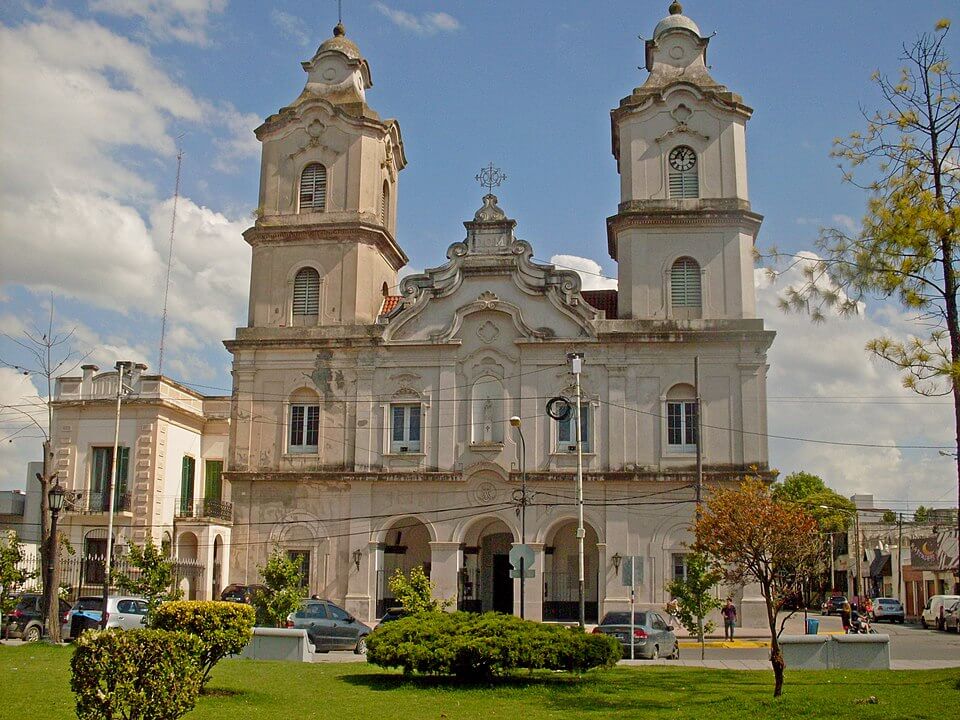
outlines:
M583 578L587 622L597 622L600 605L600 550L597 532L584 526ZM580 567L577 521L566 520L546 536L543 569L543 619L575 621L580 617Z

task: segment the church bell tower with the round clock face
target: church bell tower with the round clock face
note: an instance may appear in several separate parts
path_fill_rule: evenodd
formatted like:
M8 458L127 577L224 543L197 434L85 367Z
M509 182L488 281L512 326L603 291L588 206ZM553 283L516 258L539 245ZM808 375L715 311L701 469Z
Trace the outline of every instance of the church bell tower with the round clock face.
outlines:
M753 111L717 83L700 28L679 2L646 41L642 86L611 111L620 174L607 242L621 318L719 320L755 313L746 123Z

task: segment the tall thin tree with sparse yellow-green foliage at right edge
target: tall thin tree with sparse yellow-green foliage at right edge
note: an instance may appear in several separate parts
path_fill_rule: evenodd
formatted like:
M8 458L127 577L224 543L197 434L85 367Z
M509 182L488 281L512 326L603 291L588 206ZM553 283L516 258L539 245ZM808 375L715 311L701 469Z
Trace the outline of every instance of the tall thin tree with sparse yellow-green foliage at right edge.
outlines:
M822 320L828 308L856 313L874 296L913 314L915 334L879 337L867 350L902 370L905 387L952 396L960 503L960 73L946 51L949 31L941 20L905 44L896 79L873 74L882 107L864 112L866 130L837 138L832 153L844 181L869 192L866 216L856 233L821 231L821 257L797 259L804 282L782 306Z

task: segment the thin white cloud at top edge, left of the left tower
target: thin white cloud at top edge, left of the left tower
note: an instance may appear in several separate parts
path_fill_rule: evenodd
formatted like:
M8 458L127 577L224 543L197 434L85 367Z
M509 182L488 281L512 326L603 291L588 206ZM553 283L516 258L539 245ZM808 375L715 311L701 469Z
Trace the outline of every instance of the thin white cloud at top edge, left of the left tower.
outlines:
M90 9L142 20L158 40L206 45L210 16L222 13L227 0L91 0Z

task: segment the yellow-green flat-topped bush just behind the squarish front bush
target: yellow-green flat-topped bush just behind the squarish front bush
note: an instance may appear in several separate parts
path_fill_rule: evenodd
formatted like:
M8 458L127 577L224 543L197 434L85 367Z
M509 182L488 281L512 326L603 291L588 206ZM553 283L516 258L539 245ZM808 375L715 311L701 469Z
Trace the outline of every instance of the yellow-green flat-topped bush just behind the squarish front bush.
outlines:
M151 626L161 630L179 630L199 638L198 656L201 686L207 684L213 666L227 655L235 655L253 637L255 613L242 603L214 600L175 600L160 605L153 613Z

